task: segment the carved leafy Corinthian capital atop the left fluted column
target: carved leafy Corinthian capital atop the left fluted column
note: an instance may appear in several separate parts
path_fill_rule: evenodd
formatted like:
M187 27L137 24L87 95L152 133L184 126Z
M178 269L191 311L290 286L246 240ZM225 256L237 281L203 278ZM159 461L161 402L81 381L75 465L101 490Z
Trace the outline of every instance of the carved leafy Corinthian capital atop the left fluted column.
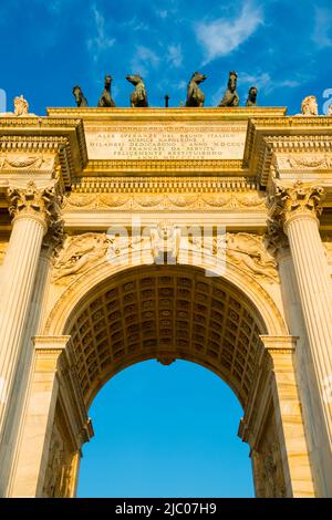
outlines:
M45 232L59 221L62 195L56 181L38 187L34 180L25 186L10 186L8 188L10 200L9 214L13 221L21 218L32 218L39 221Z

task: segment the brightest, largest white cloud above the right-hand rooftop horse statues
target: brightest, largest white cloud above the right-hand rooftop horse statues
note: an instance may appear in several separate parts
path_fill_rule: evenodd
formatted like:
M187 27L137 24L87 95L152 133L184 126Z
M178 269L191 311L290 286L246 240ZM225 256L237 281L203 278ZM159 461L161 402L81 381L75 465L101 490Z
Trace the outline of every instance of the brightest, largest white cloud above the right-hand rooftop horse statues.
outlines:
M196 38L201 43L206 58L204 65L216 58L225 56L237 49L263 23L261 9L246 0L238 18L219 18L196 24Z

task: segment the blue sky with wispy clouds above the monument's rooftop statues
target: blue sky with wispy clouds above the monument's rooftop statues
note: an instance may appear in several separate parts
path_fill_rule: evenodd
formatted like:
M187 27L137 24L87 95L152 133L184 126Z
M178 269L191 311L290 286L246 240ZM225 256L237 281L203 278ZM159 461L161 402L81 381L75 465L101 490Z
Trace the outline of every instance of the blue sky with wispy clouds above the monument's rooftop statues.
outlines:
M322 112L322 93L332 89L329 0L11 0L0 4L0 87L10 104L23 93L38 114L74 105L76 83L96 105L105 73L120 106L128 106L131 73L144 76L153 106L163 106L166 92L170 106L185 101L196 70L208 76L209 106L229 70L238 72L241 104L253 84L260 105L289 113L308 94Z

